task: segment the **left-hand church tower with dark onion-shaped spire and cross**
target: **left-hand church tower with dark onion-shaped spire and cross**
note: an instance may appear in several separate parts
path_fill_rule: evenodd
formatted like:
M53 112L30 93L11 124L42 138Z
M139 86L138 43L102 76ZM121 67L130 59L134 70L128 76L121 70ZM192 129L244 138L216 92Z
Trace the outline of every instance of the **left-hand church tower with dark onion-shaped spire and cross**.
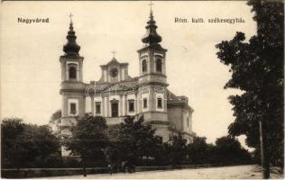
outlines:
M62 96L60 130L62 134L69 134L70 127L77 122L76 118L84 116L85 113L85 84L82 76L84 58L79 56L80 46L76 39L70 14L68 42L63 46L64 55L60 56L60 94Z

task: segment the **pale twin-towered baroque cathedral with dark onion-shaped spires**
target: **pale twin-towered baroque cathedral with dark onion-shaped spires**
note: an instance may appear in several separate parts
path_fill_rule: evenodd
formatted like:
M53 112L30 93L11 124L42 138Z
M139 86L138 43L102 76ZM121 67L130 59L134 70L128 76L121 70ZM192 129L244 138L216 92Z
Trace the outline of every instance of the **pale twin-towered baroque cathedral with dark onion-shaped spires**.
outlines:
M78 46L70 21L65 54L60 56L62 117L60 131L70 133L76 117L85 113L103 116L108 125L124 122L126 116L143 115L144 122L156 129L156 135L165 142L180 131L183 138L192 142L196 133L192 130L193 109L188 97L177 96L168 89L166 75L167 49L161 46L161 36L156 31L152 10L142 38L143 48L138 49L138 76L129 76L128 63L111 59L101 65L101 77L90 83L83 82L84 58Z

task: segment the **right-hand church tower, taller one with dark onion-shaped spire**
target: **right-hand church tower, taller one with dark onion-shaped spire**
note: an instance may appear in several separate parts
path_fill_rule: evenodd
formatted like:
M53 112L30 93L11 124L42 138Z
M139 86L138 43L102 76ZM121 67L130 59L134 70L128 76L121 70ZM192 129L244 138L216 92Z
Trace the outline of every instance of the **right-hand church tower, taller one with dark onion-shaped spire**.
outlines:
M144 120L156 129L156 135L163 136L168 130L166 87L166 51L161 47L161 36L157 33L152 8L150 19L145 26L146 35L142 38L144 47L139 49L140 111Z

